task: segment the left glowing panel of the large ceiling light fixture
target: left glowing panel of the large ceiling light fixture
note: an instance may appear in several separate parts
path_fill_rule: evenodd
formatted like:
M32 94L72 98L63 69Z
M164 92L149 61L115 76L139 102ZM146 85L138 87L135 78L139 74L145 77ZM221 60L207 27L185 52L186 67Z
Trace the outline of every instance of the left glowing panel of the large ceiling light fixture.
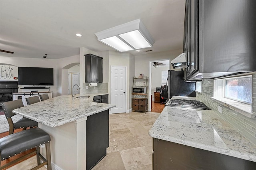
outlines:
M105 38L100 41L102 41L103 43L105 43L106 45L109 45L110 47L112 47L114 49L117 49L120 52L133 50L132 47L130 47L126 43L122 42L122 40L120 40L116 36L113 36L110 38Z

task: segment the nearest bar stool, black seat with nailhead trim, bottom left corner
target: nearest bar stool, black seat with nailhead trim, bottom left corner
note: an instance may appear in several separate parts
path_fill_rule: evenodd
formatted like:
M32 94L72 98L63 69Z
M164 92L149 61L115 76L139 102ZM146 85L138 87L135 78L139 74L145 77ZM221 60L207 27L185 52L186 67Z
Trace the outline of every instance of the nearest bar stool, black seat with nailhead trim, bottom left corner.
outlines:
M50 153L50 135L40 128L31 128L10 134L3 138L0 138L0 170L17 163L20 160L24 160L28 156L36 154L36 160L38 166L32 168L38 169L44 165L47 165L47 169L52 169L51 153ZM46 158L40 154L40 145L45 144ZM30 152L16 160L13 160L4 166L1 166L1 161L10 158L16 154L20 154L26 150L36 148L35 151ZM41 163L42 160L42 163Z

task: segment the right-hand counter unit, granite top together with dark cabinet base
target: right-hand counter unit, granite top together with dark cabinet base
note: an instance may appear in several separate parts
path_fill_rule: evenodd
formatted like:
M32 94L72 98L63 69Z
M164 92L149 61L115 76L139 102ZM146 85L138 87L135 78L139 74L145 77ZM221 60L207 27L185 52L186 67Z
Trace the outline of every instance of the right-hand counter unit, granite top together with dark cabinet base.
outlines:
M255 144L212 110L166 106L149 134L153 137L153 170L256 169Z

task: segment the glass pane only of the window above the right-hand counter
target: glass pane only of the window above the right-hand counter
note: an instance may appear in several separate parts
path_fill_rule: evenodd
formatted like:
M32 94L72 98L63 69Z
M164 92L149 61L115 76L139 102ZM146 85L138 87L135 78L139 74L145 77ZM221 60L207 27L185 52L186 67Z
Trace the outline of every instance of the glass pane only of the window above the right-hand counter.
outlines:
M226 79L225 81L224 97L252 104L252 77Z

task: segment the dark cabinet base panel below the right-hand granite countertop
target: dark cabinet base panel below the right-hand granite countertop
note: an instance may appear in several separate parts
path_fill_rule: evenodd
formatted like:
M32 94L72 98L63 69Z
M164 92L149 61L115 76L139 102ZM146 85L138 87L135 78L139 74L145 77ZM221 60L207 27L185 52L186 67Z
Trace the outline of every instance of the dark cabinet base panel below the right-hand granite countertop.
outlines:
M153 138L153 170L255 170L256 162Z

